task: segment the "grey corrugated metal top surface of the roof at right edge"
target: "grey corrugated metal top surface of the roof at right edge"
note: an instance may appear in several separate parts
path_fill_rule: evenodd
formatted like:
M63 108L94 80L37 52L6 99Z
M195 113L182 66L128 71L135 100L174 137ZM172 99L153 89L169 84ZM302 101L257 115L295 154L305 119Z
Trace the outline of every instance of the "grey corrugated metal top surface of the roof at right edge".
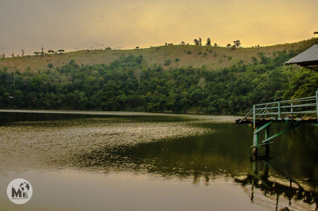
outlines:
M318 64L318 44L311 46L306 51L298 54L293 59L285 62L285 65L317 62Z

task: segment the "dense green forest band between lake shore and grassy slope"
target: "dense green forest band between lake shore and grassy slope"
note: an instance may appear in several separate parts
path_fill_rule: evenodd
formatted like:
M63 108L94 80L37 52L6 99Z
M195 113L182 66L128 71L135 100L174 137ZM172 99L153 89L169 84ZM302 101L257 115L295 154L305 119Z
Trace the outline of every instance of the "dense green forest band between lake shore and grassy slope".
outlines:
M142 55L109 65L62 67L20 73L0 69L0 107L15 109L244 112L253 104L315 95L318 74L282 65L294 50L258 53L248 64L219 70L145 65ZM245 62L247 63L247 62Z

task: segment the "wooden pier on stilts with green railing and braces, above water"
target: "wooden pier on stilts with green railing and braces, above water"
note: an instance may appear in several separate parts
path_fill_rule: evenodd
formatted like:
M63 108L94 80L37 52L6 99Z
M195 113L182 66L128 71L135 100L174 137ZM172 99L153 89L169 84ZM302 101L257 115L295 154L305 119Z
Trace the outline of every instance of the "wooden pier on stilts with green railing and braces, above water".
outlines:
M307 116L311 115L311 116ZM268 152L269 142L273 138L292 130L303 123L311 123L318 126L318 91L312 97L293 100L269 102L253 105L253 108L242 118L235 121L237 124L249 124L254 128L253 153L257 153L258 147L265 146ZM269 126L272 123L290 123L290 127L269 136ZM259 132L265 129L265 137L259 141Z

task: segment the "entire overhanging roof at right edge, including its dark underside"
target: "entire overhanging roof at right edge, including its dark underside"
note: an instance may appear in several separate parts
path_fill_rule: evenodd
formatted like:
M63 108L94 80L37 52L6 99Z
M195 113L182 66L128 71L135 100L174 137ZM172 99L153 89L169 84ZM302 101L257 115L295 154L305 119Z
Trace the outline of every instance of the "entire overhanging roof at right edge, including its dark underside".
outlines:
M297 64L318 71L318 44L311 46L306 51L285 62L285 65L291 64Z

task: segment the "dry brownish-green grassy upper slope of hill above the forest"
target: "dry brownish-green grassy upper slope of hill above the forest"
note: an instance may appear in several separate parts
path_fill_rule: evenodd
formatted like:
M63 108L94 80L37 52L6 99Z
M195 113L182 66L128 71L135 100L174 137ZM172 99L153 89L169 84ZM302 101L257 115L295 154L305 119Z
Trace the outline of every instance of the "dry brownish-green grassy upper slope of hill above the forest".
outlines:
M297 43L280 44L259 48L237 48L232 50L227 47L207 47L194 45L174 45L159 46L147 49L132 50L81 50L62 54L47 54L43 56L24 56L0 59L0 67L7 67L8 71L19 69L20 72L30 67L31 70L47 69L49 63L54 67L61 67L70 60L75 60L77 64L109 64L118 59L121 55L134 56L142 55L147 65L156 63L162 65L164 69L169 67L202 67L207 69L219 69L230 67L238 61L243 60L244 64L251 62L252 57L258 58L257 53L263 52L266 57L273 57L273 52L295 50L300 53L310 46L317 44L318 38L303 40ZM180 60L175 61L176 58ZM171 60L171 64L164 65L166 60Z

